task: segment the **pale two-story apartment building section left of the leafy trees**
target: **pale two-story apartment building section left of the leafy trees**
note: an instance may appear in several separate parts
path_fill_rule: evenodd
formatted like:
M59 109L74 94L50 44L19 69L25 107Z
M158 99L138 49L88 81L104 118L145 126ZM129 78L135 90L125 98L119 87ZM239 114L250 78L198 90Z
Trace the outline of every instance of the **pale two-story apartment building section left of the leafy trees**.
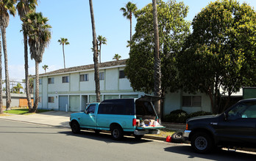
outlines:
M126 60L99 64L101 100L138 98L124 75ZM40 74L38 108L83 111L88 102L96 102L93 64Z

